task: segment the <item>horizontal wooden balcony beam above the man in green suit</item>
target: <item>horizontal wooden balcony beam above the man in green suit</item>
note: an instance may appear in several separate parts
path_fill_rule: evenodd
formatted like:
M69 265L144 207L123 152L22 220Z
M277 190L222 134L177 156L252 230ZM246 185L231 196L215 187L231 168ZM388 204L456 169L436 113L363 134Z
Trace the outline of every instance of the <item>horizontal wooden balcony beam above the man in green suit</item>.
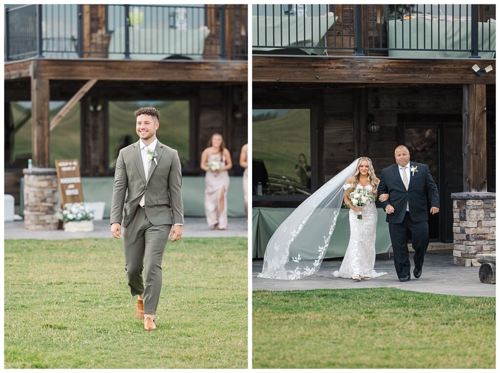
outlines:
M246 82L247 61L134 61L38 59L44 79Z

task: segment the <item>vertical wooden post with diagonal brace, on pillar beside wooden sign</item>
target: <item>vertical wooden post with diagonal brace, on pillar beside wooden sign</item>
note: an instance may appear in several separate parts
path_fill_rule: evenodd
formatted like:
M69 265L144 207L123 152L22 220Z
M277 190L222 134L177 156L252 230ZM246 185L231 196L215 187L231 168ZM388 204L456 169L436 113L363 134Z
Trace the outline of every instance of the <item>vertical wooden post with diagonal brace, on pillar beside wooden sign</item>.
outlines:
M33 166L50 167L48 79L31 77L31 149Z

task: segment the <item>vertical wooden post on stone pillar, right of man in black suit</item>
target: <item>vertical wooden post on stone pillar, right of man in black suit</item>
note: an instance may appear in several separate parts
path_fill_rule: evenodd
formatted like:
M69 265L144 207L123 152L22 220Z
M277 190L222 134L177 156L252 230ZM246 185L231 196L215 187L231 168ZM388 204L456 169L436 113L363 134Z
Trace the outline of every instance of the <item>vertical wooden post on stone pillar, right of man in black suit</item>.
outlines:
M463 85L463 191L486 192L486 86Z

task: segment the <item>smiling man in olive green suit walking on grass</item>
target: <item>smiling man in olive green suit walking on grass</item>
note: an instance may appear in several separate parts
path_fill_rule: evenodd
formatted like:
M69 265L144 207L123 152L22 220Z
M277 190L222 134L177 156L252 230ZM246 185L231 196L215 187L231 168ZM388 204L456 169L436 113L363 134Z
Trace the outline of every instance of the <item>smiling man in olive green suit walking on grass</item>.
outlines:
M159 112L141 107L134 115L139 140L118 154L109 222L114 238L121 237L123 228L128 285L138 296L137 317L151 331L156 329L163 252L168 238L182 237L182 179L177 151L156 138Z

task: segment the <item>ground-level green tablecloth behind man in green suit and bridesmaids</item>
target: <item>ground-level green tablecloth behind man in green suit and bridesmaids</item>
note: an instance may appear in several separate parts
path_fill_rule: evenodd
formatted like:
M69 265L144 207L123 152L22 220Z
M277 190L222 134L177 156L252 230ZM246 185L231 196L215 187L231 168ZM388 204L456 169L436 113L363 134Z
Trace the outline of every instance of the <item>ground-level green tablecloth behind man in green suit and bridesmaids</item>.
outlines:
M20 184L20 211L24 208L23 179ZM112 177L82 177L81 187L85 202L105 202L104 218L109 218L111 210L111 197L113 194ZM227 215L231 218L244 217L243 187L241 176L229 177L227 189ZM203 217L204 210L205 178L202 176L182 177L182 203L184 216ZM57 206L60 206L60 191L57 193Z

